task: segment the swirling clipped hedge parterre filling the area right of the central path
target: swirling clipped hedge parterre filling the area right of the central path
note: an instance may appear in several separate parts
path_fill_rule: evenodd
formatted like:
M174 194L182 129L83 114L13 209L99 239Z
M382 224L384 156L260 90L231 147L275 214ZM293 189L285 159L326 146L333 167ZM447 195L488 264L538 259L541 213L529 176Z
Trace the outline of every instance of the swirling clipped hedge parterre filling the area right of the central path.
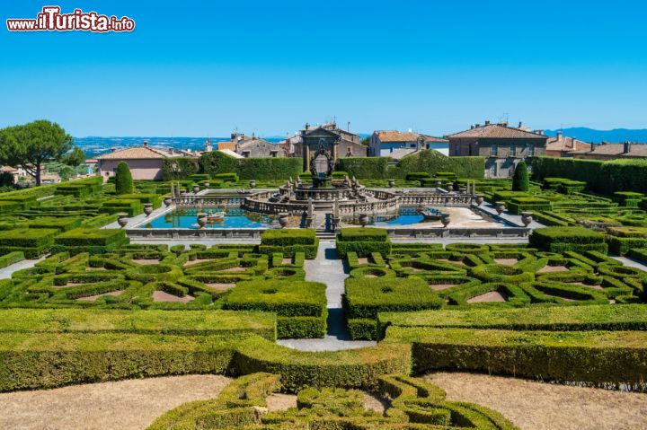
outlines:
M569 234L564 234L563 231ZM533 237L535 239L533 240ZM381 312L644 303L647 273L607 257L603 235L583 228L536 229L531 244L392 244L390 254L350 251L344 308L350 336L384 334ZM606 248L605 248L606 249ZM559 250L559 252L555 252ZM431 312L433 314L433 312Z

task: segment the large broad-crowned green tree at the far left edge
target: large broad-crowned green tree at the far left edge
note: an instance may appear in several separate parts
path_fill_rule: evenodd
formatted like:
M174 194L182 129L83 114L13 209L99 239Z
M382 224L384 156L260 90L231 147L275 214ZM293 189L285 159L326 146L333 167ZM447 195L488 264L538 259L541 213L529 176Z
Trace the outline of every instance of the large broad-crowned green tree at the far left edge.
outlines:
M60 160L73 146L57 123L40 119L0 130L0 162L22 168L40 185L43 162Z

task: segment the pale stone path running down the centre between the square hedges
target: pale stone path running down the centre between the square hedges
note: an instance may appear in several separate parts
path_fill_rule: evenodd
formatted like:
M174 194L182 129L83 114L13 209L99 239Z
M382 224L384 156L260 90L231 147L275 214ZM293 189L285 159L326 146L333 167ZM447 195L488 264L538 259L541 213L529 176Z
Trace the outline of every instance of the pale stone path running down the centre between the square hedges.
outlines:
M341 308L341 294L344 292L348 268L344 267L341 259L337 259L334 241L320 241L316 259L307 259L304 268L307 281L327 285L328 335L323 339L281 339L277 343L301 351L339 351L376 345L372 341L350 340Z

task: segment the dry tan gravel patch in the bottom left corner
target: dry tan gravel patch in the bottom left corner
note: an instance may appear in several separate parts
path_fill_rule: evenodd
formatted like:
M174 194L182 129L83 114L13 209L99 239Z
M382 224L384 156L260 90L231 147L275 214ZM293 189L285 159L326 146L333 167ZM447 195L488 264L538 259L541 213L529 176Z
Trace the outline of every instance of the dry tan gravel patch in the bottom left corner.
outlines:
M0 393L0 428L141 430L182 403L217 397L229 381L186 375Z

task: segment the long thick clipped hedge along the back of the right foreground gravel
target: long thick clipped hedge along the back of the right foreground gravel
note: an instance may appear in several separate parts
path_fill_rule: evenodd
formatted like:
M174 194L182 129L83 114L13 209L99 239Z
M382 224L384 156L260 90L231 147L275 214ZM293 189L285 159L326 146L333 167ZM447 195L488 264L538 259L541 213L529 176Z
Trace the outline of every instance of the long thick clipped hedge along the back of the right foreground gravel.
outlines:
M644 331L512 331L400 328L387 341L412 344L415 373L510 374L557 382L644 386Z

